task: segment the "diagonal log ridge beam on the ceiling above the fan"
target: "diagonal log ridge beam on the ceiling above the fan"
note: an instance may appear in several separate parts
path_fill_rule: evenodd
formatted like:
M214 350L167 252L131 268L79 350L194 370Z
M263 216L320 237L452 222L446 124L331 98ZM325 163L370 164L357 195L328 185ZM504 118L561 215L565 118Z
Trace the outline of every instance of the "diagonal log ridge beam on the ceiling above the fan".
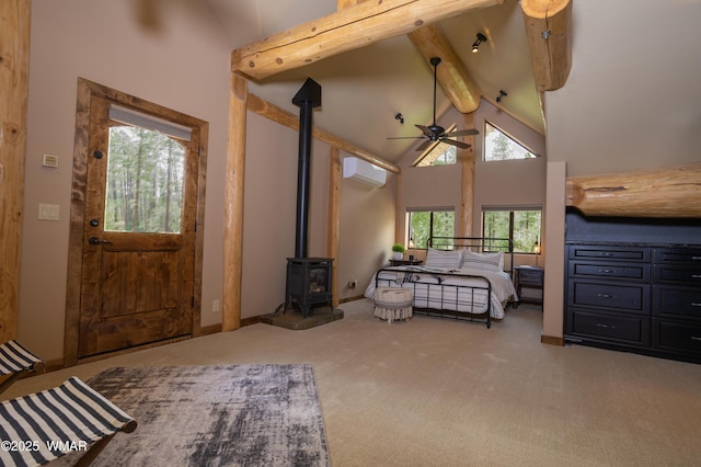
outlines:
M443 61L436 69L437 81L458 112L467 114L476 111L482 98L480 88L466 70L440 26L429 24L420 27L410 32L409 38L426 62L430 64L432 57L441 58Z

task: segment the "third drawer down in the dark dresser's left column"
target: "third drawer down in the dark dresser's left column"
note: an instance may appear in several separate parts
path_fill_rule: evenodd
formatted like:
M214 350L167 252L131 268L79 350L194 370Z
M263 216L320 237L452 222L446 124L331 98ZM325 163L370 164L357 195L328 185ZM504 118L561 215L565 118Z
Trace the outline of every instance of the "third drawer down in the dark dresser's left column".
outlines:
M646 284L611 285L575 280L570 281L567 303L571 306L647 314L650 286Z

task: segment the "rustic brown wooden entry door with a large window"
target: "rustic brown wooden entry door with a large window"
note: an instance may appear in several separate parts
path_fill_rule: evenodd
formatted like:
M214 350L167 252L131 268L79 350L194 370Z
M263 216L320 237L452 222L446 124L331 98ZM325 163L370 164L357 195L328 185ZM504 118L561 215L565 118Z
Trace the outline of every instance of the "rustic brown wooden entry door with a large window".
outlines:
M112 105L90 104L79 358L193 329L198 130L165 137L115 122Z

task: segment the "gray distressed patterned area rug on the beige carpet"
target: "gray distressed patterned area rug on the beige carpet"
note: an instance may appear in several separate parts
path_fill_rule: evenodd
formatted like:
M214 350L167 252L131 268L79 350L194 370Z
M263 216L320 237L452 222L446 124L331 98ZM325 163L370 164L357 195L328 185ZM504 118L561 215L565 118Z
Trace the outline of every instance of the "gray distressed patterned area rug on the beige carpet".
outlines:
M110 368L88 384L138 423L94 465L331 465L311 365Z

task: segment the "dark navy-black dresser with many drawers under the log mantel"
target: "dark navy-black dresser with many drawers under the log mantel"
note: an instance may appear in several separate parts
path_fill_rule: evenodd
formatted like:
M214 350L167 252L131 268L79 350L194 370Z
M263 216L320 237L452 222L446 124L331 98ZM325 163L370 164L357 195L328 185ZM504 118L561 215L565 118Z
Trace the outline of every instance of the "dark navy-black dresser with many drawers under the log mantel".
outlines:
M566 219L565 341L701 363L701 225Z

